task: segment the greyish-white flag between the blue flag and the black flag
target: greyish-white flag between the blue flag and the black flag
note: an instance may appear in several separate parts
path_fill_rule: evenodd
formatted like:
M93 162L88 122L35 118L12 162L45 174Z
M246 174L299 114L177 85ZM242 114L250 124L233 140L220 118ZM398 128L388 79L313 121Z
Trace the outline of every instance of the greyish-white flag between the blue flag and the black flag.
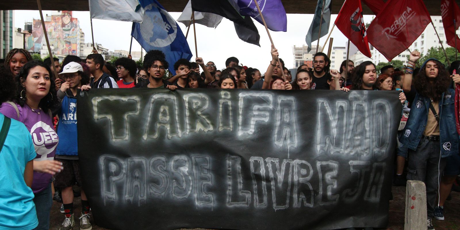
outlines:
M177 19L179 23L184 23L185 26L190 26L190 18L192 17L192 2L189 0L182 11L182 14ZM216 28L222 21L222 16L213 13L202 13L195 11L195 23L205 25L207 27Z

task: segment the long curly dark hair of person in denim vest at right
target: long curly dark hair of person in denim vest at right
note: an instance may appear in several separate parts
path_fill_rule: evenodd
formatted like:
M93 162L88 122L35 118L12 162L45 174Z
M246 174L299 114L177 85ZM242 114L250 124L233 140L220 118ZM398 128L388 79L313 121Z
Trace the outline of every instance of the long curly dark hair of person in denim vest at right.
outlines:
M426 63L433 61L437 64L437 76L433 83L428 81L426 76ZM450 77L444 65L436 59L428 59L420 69L419 74L414 80L414 86L417 92L426 98L433 98L434 101L439 101L444 92L449 88Z

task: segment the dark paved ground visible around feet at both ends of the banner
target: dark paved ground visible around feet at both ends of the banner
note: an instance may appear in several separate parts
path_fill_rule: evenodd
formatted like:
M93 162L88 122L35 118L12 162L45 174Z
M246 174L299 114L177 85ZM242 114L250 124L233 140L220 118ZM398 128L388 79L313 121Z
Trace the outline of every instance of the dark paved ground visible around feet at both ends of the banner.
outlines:
M406 187L392 187L393 191L393 200L390 201L390 221L388 227L380 230L403 230L404 229L404 206L405 206L405 196L406 196ZM445 220L438 221L433 220L433 225L436 230L458 230L460 229L460 193L452 192L452 200L446 201L444 207L444 216ZM81 213L81 203L80 198L75 198L75 213ZM63 221L63 214L59 212L61 203L53 201L53 207L51 211L51 230L58 230ZM93 220L91 220L94 223ZM76 221L74 230L79 230L80 222ZM106 230L99 226L93 225L93 230ZM195 229L203 230L203 229Z

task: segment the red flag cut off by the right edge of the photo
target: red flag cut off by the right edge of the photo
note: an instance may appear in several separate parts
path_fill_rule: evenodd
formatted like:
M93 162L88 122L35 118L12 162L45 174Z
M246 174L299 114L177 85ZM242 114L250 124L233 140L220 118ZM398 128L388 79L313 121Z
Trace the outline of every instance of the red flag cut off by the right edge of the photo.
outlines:
M455 47L457 38L457 50L460 51L460 40L455 31L460 26L460 8L454 0L441 0L441 16L443 18L444 32L447 44ZM455 25L454 25L455 20Z

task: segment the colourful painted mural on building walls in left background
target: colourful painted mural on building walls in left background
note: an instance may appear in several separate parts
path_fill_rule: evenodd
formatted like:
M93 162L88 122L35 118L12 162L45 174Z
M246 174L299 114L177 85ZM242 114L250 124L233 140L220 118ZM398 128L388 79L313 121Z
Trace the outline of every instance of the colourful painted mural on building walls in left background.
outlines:
M28 50L38 52L46 50L41 20L34 20L32 36L28 39ZM47 16L45 20L48 40L54 54L79 55L80 29L78 19L72 17L72 11L62 11L60 15Z

